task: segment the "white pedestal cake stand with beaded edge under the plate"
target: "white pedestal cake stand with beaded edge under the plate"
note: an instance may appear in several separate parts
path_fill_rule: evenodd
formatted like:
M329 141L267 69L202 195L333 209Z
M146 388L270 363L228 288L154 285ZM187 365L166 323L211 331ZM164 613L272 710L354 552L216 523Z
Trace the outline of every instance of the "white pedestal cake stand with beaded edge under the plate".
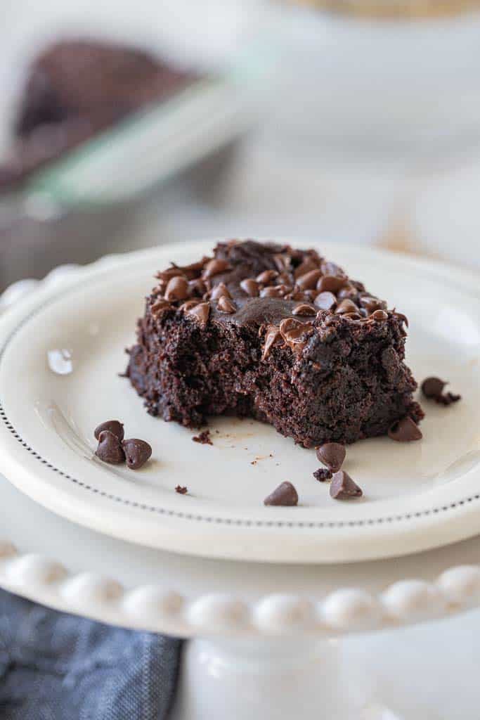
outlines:
M0 308L34 289L32 281L11 287ZM77 526L0 480L0 586L110 624L189 638L176 720L398 719L362 668L342 662L342 637L480 605L480 536L355 564L199 559Z

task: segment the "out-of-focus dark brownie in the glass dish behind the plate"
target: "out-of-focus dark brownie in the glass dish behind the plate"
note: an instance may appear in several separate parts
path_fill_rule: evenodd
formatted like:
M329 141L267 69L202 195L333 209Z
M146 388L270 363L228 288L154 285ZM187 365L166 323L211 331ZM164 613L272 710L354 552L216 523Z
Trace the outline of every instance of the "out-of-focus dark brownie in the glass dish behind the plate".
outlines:
M91 40L56 43L30 70L15 140L0 163L0 189L192 79L143 50Z

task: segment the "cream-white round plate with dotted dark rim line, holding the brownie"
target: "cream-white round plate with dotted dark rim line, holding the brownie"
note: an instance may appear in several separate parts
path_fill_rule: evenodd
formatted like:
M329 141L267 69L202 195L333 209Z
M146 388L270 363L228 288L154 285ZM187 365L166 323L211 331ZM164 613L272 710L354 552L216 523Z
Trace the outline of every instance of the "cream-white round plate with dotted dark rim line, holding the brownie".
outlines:
M170 260L193 261L212 244L102 261L47 284L7 312L0 322L1 472L76 523L210 557L347 562L406 554L478 533L476 276L322 244L325 255L406 312L407 360L417 379L437 374L463 395L449 408L424 403L421 442L379 438L350 446L344 467L364 497L335 502L328 484L312 477L319 465L314 451L269 426L225 418L212 421L213 446L196 444L195 433L150 417L118 375L155 270ZM67 351L63 360L58 351ZM127 436L153 446L153 460L141 471L94 457L93 430L109 418L122 420ZM299 506L264 507L263 498L283 480L294 482ZM186 485L189 494L178 495L176 485Z

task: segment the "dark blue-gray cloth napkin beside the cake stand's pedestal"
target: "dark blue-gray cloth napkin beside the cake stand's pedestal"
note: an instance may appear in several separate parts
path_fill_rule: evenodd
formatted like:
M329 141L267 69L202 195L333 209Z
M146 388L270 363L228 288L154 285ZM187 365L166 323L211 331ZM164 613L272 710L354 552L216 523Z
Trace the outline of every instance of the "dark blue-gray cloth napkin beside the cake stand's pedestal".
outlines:
M163 720L181 641L48 610L0 590L1 720Z

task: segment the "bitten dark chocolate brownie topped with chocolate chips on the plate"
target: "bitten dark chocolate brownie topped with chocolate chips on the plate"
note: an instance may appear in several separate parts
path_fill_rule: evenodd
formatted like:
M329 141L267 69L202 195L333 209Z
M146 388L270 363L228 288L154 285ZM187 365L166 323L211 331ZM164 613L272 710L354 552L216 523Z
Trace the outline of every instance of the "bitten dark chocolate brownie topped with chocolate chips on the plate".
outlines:
M249 416L305 447L351 443L423 417L405 325L317 251L232 240L158 273L127 376L184 426Z

